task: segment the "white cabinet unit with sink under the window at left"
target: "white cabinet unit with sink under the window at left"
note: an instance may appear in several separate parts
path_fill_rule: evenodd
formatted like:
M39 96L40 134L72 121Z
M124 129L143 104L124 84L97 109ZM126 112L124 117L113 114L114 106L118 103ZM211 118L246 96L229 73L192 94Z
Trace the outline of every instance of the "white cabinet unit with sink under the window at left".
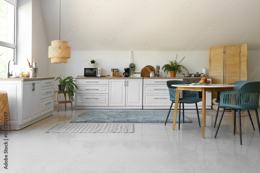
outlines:
M11 129L22 129L52 114L53 84L54 79L41 78L0 81L0 90L8 94Z

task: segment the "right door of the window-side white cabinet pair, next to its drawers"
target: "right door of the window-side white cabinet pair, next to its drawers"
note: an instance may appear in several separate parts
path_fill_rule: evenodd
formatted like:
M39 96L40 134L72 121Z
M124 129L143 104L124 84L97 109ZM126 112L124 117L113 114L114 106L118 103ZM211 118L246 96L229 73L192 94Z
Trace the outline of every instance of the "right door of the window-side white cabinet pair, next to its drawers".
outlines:
M41 103L41 81L33 81L34 85L34 91L32 92L33 98L32 98L32 120L39 117L41 115L41 109L40 109L40 103Z

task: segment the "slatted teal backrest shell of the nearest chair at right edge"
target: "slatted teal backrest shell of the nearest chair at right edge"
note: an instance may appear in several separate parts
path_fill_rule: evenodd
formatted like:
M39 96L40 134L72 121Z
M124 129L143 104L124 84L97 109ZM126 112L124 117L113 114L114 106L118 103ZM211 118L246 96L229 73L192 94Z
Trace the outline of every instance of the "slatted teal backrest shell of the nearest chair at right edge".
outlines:
M236 91L222 92L220 105L241 110L257 109L260 95L260 82L248 82Z

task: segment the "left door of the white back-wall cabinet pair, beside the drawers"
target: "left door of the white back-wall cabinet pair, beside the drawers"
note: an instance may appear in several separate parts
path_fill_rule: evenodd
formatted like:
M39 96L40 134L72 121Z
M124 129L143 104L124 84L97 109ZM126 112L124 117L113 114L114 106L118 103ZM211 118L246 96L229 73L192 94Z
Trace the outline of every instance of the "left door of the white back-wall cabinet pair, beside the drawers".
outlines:
M109 79L108 106L126 106L125 79Z

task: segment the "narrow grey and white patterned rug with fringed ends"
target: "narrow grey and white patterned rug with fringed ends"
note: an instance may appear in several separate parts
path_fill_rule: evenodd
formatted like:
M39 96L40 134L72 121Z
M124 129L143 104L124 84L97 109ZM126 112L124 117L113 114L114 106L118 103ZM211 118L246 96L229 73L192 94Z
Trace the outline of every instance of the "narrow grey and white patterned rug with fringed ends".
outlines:
M134 133L134 124L57 124L45 133Z

